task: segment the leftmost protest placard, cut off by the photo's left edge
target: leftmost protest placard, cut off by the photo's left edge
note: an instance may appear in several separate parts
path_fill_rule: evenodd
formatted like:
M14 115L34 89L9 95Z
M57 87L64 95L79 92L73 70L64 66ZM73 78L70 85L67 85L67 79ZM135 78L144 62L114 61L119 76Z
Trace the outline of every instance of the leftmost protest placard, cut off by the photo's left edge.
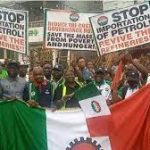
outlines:
M26 53L27 11L0 8L0 47Z

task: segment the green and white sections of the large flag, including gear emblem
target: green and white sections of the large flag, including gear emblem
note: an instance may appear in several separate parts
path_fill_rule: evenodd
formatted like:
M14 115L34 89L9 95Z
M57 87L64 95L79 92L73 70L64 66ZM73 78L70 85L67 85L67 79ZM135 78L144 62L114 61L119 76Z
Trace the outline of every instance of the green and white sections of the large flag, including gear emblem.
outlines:
M0 103L0 150L110 150L107 137L91 137L84 113ZM106 148L107 147L107 148Z

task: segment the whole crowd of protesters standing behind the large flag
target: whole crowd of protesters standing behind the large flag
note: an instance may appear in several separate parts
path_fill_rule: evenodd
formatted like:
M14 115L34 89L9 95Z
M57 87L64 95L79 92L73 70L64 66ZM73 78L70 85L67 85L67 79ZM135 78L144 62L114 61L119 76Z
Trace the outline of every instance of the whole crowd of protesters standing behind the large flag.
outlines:
M122 55L120 61L123 72L119 81L113 81L119 61L110 68L95 67L83 57L65 69L61 64L53 67L46 63L33 68L16 61L9 61L5 66L0 64L0 101L19 99L31 107L76 108L80 106L74 92L94 84L107 104L112 105L125 100L150 81L149 62L145 67L130 54Z

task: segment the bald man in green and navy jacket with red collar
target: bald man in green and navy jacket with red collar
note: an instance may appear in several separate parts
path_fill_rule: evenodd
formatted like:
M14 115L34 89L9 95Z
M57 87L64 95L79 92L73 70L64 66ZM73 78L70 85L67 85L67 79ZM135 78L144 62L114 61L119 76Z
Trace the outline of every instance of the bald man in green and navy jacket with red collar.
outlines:
M50 108L52 106L52 86L49 81L44 80L41 67L33 68L33 81L26 86L23 99L32 107L40 105Z

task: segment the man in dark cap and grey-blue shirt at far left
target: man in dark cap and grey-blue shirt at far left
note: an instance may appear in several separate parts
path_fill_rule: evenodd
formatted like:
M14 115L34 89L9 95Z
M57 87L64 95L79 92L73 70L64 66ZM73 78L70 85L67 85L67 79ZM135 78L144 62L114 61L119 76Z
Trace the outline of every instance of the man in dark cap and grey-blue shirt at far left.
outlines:
M19 63L9 62L7 65L8 77L0 80L0 98L3 100L23 99L26 81L18 77Z

